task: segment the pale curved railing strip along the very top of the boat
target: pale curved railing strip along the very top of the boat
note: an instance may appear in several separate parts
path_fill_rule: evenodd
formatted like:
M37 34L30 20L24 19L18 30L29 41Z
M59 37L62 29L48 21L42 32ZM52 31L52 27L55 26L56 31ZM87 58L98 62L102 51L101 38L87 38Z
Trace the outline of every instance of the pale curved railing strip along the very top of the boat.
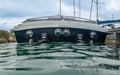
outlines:
M73 16L59 16L59 15L29 18L29 19L25 20L24 22L41 21L41 20L62 20L62 19L63 20L85 21L85 22L96 23L96 21L89 20L89 19L86 19L86 18L73 17Z

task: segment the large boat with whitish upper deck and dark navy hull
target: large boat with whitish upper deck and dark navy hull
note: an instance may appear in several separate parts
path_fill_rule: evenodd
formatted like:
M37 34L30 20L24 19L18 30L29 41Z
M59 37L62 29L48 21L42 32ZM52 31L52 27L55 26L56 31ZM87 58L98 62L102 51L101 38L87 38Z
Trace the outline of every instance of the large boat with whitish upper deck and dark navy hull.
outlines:
M104 43L107 30L102 28L96 21L60 14L29 18L15 26L14 33L18 43Z

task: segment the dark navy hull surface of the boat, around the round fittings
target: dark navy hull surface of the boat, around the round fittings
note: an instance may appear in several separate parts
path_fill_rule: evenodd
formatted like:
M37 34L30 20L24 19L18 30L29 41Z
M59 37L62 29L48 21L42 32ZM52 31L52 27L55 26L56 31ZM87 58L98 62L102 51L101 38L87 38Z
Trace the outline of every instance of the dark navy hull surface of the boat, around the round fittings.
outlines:
M94 43L104 43L106 33L104 32L96 32L97 36L95 38L90 37L90 32L93 30L87 30L87 29L78 29L78 28L67 28L70 30L70 36L65 37L63 34L59 37L55 35L55 29L57 28L37 28L37 29L30 29L33 31L33 36L31 37L33 39L33 42L38 42L42 40L42 33L47 33L47 40L49 42L78 42L81 40L84 43L89 43L90 40L92 40ZM65 28L60 28L64 30ZM15 31L16 40L18 43L26 43L29 42L29 39L26 38L26 31L28 30L20 30ZM78 39L77 34L82 34L82 38Z

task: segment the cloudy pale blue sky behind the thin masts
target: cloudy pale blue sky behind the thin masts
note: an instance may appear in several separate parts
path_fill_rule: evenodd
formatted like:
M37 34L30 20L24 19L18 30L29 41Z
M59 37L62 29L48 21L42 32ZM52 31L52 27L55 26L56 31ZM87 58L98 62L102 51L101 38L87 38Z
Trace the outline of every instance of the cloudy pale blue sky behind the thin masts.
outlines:
M95 0L94 0L95 1ZM81 17L89 19L91 0L81 0ZM99 0L99 20L120 19L120 0ZM75 0L79 17L79 0ZM73 0L62 0L62 15L73 16ZM59 14L59 0L0 0L0 29L9 31L24 20ZM92 20L96 20L93 3Z

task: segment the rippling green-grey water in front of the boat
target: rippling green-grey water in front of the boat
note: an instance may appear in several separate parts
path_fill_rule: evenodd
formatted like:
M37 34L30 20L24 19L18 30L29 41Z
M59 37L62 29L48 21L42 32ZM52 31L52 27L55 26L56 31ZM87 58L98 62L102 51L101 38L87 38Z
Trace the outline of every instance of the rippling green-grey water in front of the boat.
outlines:
M0 75L120 75L120 48L62 42L1 44Z

